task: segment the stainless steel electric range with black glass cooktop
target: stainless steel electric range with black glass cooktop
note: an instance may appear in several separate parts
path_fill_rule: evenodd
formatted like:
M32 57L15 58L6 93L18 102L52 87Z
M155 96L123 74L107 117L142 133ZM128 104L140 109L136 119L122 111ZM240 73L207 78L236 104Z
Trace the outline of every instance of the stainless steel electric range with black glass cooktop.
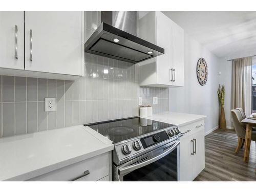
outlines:
M130 117L85 124L113 141L113 181L178 181L177 125Z

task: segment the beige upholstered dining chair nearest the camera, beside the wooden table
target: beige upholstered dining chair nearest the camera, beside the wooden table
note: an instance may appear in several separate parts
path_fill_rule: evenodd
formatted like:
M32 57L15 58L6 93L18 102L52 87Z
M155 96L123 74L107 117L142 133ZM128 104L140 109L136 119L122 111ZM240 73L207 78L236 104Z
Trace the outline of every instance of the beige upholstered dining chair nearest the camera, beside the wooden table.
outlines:
M236 134L238 136L238 146L235 151L236 153L238 153L244 145L246 128L245 124L241 122L244 118L242 117L242 114L238 109L231 110L231 114L233 118L234 130L236 131ZM256 131L252 131L251 140L256 141Z

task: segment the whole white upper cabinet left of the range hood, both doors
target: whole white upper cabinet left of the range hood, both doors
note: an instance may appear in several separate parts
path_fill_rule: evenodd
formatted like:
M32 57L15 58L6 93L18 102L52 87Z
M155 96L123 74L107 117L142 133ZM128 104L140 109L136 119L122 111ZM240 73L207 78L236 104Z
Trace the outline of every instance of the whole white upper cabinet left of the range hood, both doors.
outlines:
M0 11L0 74L83 76L84 12Z

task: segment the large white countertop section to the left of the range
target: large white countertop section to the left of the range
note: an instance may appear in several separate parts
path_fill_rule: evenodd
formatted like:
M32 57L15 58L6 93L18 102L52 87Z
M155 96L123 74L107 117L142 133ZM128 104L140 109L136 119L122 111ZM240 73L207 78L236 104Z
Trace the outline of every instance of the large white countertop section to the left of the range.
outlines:
M28 180L113 148L111 140L83 125L2 138L0 180Z

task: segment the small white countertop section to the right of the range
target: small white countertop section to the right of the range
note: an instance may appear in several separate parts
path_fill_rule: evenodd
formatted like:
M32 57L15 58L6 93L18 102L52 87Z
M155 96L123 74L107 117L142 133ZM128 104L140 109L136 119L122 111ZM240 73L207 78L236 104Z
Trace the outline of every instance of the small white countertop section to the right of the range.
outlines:
M174 112L163 112L163 113L154 114L152 117L146 117L146 119L161 121L169 124L175 124L178 126L183 126L183 125L186 125L195 121L199 121L205 118L206 118L205 115L174 113Z

